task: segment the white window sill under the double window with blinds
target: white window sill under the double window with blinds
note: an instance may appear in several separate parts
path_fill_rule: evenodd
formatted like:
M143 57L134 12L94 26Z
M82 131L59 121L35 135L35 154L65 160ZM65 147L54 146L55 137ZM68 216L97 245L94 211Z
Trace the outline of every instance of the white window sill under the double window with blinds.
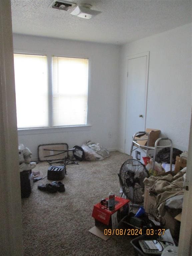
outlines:
M77 126L60 126L60 127L46 127L46 128L29 128L18 129L18 135L31 134L45 134L45 133L59 133L59 132L74 132L74 131L88 131L92 125L77 125Z

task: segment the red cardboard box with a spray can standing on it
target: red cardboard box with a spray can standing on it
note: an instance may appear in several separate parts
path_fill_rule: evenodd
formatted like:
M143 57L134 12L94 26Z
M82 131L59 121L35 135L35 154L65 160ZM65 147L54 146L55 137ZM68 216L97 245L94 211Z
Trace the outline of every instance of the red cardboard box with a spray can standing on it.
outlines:
M108 198L106 198L108 200ZM97 221L107 225L108 227L116 228L119 221L128 215L130 200L121 197L115 197L115 210L109 211L108 208L101 208L101 203L94 205L92 217Z

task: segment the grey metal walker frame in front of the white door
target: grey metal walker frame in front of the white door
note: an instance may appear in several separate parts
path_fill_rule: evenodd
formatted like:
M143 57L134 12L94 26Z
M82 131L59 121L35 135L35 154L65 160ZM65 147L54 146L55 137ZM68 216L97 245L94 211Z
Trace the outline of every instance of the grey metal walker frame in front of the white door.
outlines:
M146 140L146 138L144 138L144 139L138 139L138 138L135 139L135 137L138 136L138 134L148 135L147 146L141 146L141 145L139 145L139 143L138 143L137 141ZM161 140L169 140L169 141L170 141L170 144L169 144L169 145L164 145L164 146L159 146L158 143L159 143ZM148 151L149 151L149 149L154 150L154 151L153 151L153 158L151 158L151 159L153 160L152 173L153 173L154 167L155 167L155 158L156 158L156 154L157 154L157 149L158 149L158 148L170 148L170 171L172 172L173 145L172 145L172 140L171 140L171 139L169 139L168 137L159 138L159 139L156 140L155 146L154 146L154 147L151 147L151 146L148 146L148 145L149 145L149 133L147 133L147 132L136 132L136 133L133 135L133 140L132 140L132 144L131 144L131 150L130 150L129 159L131 159L132 152L137 149L137 148L133 149L133 146L134 146L134 145L137 145L137 147L141 148L141 150L143 150L143 152L145 152L144 149L146 149L146 150L147 150L146 155L147 155L148 157L150 157L150 158L151 158L151 156L148 154Z

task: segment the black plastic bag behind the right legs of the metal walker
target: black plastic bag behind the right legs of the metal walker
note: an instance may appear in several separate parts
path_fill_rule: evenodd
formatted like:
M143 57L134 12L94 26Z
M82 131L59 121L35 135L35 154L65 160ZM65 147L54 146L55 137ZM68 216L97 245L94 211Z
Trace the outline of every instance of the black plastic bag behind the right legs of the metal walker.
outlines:
M176 156L179 156L181 153L183 153L183 151L177 148L173 148L173 164L175 164ZM160 150L156 155L156 161L158 163L170 164L170 148L163 148L162 150Z

